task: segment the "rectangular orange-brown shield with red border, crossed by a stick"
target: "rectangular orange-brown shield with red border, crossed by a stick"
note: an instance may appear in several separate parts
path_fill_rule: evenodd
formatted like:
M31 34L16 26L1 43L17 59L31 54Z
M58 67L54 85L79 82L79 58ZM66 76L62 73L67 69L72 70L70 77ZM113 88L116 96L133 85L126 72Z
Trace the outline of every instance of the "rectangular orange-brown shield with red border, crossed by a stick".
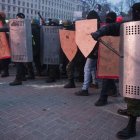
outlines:
M105 36L102 40L119 52L120 37ZM97 77L104 79L119 78L119 56L100 43Z

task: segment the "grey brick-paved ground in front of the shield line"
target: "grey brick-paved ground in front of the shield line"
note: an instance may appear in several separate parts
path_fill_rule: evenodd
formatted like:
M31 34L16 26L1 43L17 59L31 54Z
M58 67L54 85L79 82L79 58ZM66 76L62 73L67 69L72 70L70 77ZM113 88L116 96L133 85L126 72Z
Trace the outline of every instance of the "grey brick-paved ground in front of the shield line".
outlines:
M95 107L100 90L91 96L77 97L64 89L65 80L46 84L45 79L26 81L22 86L8 85L14 79L0 78L0 140L117 140L115 134L125 127L127 117L116 114L124 107L121 97L109 98L105 107ZM140 139L140 123L137 124Z

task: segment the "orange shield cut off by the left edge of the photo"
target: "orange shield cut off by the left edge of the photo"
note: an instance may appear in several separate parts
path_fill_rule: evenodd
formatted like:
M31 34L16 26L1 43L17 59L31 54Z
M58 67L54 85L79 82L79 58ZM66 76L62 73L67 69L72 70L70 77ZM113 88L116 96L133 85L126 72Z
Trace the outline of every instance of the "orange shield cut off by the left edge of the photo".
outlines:
M0 27L3 27L2 22L0 21ZM0 32L0 59L10 58L10 49L6 34Z

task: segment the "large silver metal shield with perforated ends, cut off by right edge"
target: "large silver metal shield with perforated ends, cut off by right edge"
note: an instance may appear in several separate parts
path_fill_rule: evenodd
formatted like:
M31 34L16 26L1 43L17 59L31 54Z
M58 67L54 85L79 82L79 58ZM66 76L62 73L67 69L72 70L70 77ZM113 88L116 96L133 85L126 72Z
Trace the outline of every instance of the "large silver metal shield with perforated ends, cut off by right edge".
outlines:
M122 24L121 35L121 91L124 97L140 99L140 21Z

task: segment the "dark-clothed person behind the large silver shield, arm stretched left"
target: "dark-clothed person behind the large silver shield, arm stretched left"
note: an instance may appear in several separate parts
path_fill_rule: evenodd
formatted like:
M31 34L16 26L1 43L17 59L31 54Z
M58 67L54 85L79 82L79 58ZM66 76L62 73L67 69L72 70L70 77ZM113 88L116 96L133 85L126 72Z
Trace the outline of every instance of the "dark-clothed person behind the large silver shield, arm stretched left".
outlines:
M133 21L140 21L140 2L135 3L132 6L132 18ZM102 27L95 33L92 33L92 37L98 40L99 37L104 35L118 36L120 34L120 23L111 24L106 27ZM127 103L127 109L125 113L129 116L127 126L117 133L119 139L129 139L136 136L136 120L140 116L140 100L136 98L125 98Z

